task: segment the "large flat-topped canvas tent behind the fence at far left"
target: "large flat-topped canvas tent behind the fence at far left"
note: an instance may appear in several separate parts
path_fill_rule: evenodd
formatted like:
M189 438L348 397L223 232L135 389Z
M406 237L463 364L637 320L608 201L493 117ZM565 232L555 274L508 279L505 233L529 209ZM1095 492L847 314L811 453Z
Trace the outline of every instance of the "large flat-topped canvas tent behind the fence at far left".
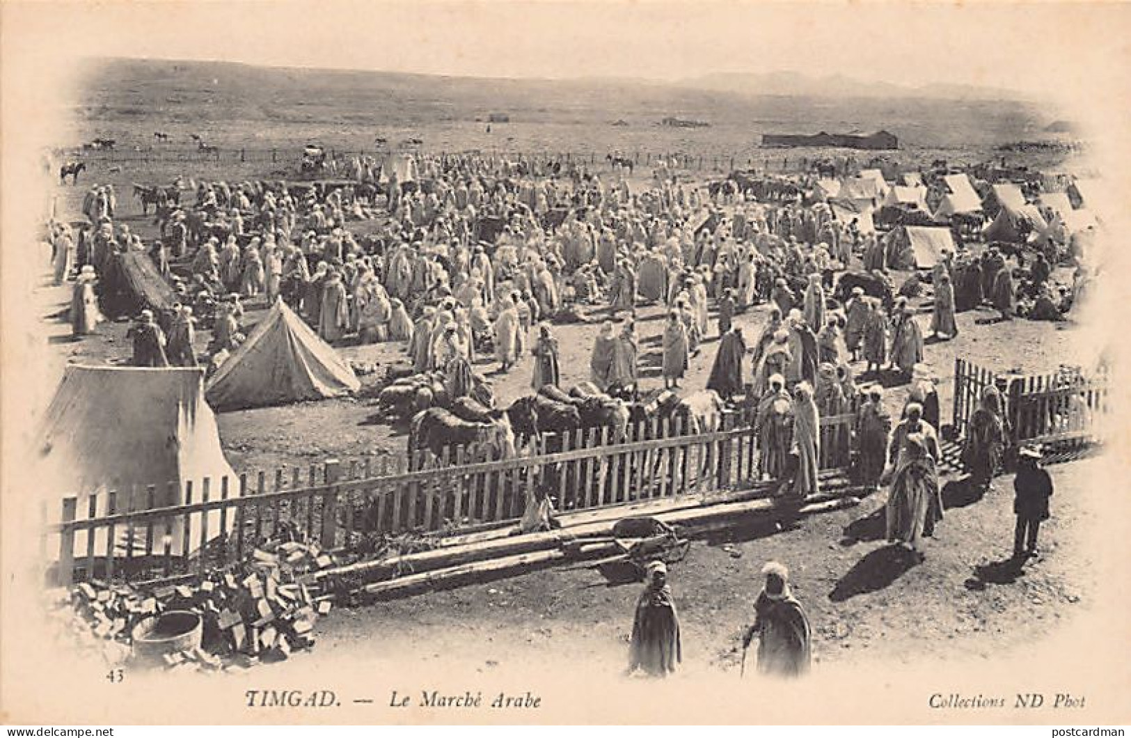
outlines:
M33 462L32 479L55 500L49 505L78 497L85 516L90 496L96 496L96 513L104 515L109 492L116 492L119 512L130 505L135 510L169 507L184 503L187 482L199 490L210 478L218 494L225 477L228 495L239 496L235 472L219 445L216 417L204 401L204 376L199 368L67 367L44 417ZM155 486L152 505L149 484ZM52 514L59 509L49 506ZM199 537L192 532L201 517L192 516L187 531L195 546ZM208 530L218 533L218 513L216 521L213 514L207 517ZM155 521L155 530L164 530L164 522ZM182 551L184 521L170 523L172 550ZM139 532L141 539L145 532ZM85 552L86 534L78 538L76 550ZM104 552L104 531L101 538L96 550Z

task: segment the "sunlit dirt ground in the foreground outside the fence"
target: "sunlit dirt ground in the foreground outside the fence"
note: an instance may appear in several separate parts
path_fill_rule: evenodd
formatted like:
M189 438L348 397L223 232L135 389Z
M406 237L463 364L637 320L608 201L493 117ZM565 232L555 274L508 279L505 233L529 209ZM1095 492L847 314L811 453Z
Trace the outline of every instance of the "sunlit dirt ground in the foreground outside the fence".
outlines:
M1053 517L1042 526L1041 557L1024 568L1005 561L1012 547L1011 478L995 480L982 499L949 487L946 520L922 564L882 541L882 491L858 507L805 518L784 532L752 527L693 542L670 576L683 676L739 669L741 635L752 621L768 560L791 567L794 593L812 625L818 669L871 660L891 667L999 659L1038 642L1090 607L1093 567L1081 543L1094 522L1096 491L1080 480L1093 463L1051 467ZM551 568L337 609L319 623L314 653L284 664L280 673L340 659L378 670L382 664L426 669L442 659L457 670L537 663L553 672L584 653L593 679L615 678L627 664L639 591L638 584L611 584L595 570ZM753 654L749 659L752 668Z

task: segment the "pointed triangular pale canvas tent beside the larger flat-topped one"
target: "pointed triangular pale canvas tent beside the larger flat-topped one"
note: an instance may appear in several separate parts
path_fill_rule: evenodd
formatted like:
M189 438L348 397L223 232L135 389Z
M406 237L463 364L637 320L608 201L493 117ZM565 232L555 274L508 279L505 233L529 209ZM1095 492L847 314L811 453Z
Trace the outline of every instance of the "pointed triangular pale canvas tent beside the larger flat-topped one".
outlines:
M353 369L282 300L208 381L216 410L338 397L361 387Z

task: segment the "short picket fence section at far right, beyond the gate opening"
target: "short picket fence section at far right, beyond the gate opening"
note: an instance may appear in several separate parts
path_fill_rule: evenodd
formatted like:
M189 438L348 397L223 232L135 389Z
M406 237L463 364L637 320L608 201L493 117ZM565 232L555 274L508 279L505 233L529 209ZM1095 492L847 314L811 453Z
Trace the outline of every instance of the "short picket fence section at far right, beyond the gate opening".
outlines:
M1086 376L1062 368L1043 375L994 372L964 359L955 360L953 427L965 434L985 387L1002 393L1012 446L1085 444L1100 437L1108 412L1108 374Z

